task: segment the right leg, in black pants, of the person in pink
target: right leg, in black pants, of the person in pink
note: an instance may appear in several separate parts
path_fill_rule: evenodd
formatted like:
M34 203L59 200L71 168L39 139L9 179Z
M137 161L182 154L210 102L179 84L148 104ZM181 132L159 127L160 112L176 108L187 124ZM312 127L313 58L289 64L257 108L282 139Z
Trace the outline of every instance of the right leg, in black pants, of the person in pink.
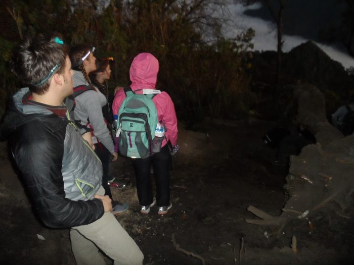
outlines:
M168 206L170 201L171 154L167 145L152 156L156 181L156 201L158 206Z

